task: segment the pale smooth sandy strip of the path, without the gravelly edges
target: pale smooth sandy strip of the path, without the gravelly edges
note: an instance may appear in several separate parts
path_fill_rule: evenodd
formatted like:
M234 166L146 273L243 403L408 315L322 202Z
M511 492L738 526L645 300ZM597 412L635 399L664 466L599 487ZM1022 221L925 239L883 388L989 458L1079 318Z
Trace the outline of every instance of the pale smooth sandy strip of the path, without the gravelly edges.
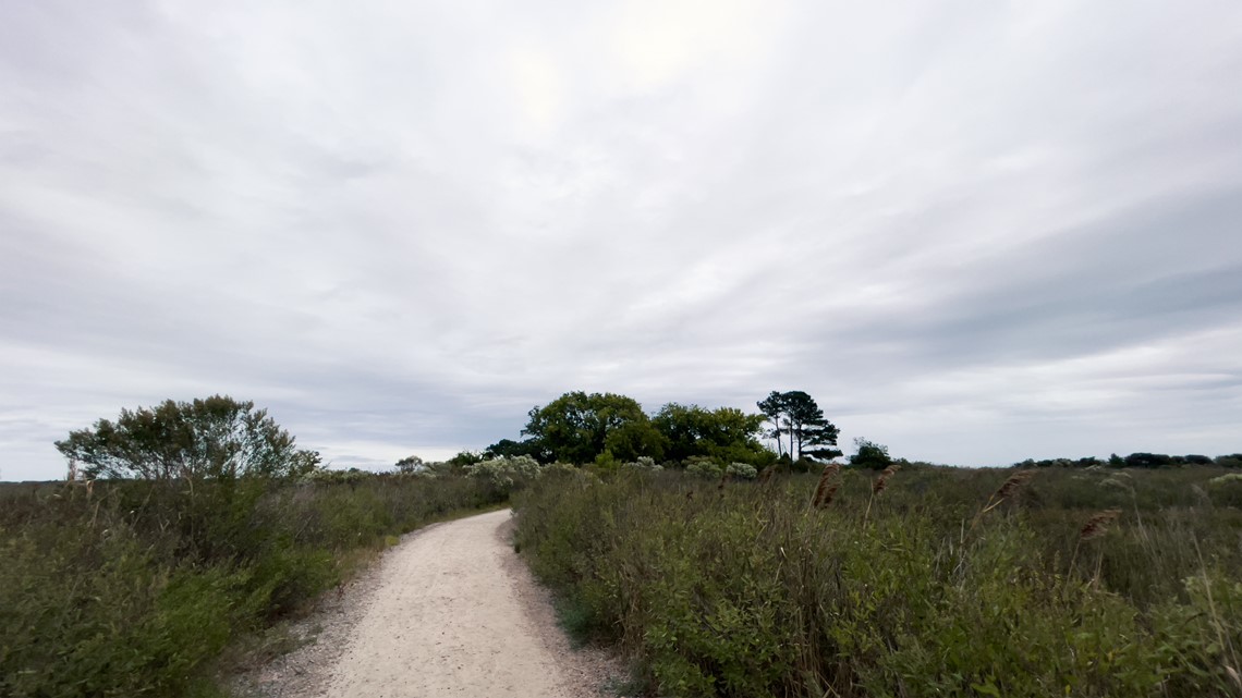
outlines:
M509 518L502 510L436 525L385 554L325 694L581 696L581 677L563 669L564 640L549 637L532 611Z

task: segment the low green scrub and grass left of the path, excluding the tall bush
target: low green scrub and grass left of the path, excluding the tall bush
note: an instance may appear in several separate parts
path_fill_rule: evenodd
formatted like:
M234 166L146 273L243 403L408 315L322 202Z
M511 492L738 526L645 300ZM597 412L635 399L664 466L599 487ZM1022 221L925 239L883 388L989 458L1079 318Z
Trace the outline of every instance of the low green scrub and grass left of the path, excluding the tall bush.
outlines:
M456 510L482 478L0 488L0 696L216 696L221 651Z

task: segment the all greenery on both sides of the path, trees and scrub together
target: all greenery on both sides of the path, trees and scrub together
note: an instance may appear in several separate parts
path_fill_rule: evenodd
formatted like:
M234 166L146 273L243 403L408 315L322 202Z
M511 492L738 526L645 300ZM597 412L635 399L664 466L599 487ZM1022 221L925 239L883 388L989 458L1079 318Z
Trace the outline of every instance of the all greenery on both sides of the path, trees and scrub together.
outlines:
M810 395L758 406L568 392L385 474L227 396L123 410L56 443L68 482L0 487L0 696L219 694L240 637L510 496L566 622L661 694L1242 693L1242 455L964 471L856 440L825 468Z

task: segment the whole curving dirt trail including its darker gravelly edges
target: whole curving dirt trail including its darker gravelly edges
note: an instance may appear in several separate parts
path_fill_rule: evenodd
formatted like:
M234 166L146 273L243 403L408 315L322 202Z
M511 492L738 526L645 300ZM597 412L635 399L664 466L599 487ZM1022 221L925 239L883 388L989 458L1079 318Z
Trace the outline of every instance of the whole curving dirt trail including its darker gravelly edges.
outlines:
M513 551L508 510L406 537L309 619L315 641L263 667L243 694L281 698L576 698L617 668L571 651ZM334 607L333 607L334 606Z

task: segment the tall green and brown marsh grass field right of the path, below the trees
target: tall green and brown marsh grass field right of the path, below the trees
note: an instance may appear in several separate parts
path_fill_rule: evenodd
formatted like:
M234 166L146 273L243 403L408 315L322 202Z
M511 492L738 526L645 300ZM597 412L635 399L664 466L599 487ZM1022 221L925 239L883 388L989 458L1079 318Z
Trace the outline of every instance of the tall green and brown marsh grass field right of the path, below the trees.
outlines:
M661 696L1242 693L1220 471L1013 474L568 474L518 496L517 543Z

